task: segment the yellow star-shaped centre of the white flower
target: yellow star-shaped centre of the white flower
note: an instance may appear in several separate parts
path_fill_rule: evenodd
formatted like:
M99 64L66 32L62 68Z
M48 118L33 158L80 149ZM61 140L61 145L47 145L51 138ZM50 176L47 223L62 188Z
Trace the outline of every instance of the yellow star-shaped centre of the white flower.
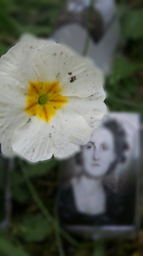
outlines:
M66 97L59 94L60 84L54 82L29 82L25 111L48 122L67 103Z

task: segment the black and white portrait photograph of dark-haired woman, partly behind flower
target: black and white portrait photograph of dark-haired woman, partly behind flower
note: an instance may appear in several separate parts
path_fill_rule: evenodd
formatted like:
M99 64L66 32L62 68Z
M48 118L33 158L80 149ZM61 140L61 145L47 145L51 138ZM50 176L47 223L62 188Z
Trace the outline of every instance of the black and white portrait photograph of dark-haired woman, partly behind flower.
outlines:
M139 147L137 114L108 114L64 164L58 213L67 225L134 225Z

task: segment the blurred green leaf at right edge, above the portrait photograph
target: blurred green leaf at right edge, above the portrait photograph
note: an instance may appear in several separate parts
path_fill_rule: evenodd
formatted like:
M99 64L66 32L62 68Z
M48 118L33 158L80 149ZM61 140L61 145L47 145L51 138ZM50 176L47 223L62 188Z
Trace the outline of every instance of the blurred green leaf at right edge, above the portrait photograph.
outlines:
M124 56L116 56L112 64L109 82L111 84L117 83L120 79L126 78L141 68L143 68L143 63L132 63Z

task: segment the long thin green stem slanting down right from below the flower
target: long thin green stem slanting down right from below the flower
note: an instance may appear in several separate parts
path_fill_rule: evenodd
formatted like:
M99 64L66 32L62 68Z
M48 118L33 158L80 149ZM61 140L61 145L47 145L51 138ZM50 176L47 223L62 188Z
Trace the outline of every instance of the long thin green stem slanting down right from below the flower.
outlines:
M24 166L24 163L22 161L20 161L20 165L21 165L21 169L22 169L27 187L29 188L29 191L30 191L35 203L37 204L39 209L42 211L45 218L47 218L48 222L51 225L53 225L58 230L58 232L61 233L61 235L63 235L63 237L69 243L73 244L74 246L79 246L79 244L66 231L64 231L62 228L59 227L57 221L51 216L51 214L49 213L49 211L47 210L45 205L43 205L42 201L40 200L40 197L38 196L34 186L32 185L32 182L31 182L29 176L26 173L25 166Z

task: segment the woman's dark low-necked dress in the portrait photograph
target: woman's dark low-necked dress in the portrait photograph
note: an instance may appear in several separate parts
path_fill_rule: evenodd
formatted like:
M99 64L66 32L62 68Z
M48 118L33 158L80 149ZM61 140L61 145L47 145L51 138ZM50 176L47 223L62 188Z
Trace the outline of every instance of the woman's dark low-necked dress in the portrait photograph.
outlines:
M104 186L106 212L100 215L79 213L72 186L61 188L58 197L58 214L61 223L71 225L132 225L134 221L135 191L119 196Z

